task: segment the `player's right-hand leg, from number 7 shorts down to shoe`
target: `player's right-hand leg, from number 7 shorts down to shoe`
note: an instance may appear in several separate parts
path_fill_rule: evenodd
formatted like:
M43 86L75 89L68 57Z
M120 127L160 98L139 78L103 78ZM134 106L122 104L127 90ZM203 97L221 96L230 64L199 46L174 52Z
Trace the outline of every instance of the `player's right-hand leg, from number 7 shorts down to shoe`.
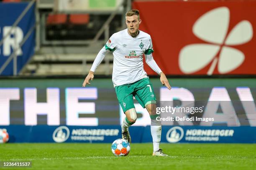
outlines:
M158 116L156 114L156 97L154 89L149 81L145 78L138 85L138 90L135 95L136 100L141 104L143 108L146 107L151 118L151 135L153 139L153 155L156 156L167 156L159 148L161 141L161 122L156 120Z

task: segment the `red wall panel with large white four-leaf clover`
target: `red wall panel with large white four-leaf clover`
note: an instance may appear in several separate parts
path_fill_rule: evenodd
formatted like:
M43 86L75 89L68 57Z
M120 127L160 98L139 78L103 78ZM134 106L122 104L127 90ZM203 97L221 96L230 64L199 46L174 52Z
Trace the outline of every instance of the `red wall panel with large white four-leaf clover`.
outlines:
M255 75L255 6L255 0L133 1L168 75Z

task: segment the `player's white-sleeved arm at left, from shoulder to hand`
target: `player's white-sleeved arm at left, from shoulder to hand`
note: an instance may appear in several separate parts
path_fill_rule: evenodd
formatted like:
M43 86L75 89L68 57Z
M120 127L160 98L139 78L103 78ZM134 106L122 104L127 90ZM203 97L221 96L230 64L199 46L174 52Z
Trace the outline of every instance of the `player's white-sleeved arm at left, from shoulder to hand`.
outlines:
M109 51L113 51L115 49L115 44L113 43L113 39L114 39L114 37L112 35L110 37L110 39L108 40L108 42L105 44L105 46L102 47L100 52L97 54L88 75L85 77L82 87L85 87L87 84L89 84L89 85L91 84L89 82L89 80L93 80L94 72L95 72L96 68L100 65L100 63L102 62L102 60L104 59L106 54Z

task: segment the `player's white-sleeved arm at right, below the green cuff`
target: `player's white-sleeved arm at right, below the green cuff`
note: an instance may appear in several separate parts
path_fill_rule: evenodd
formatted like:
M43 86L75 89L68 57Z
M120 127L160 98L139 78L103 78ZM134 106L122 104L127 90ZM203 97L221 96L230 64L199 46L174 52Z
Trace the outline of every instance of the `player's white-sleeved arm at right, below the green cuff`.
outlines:
M161 69L159 68L159 66L156 64L156 61L153 58L152 53L151 54L145 54L145 58L146 58L146 63L147 65L154 70L157 74L160 75L160 81L162 83L162 85L165 85L169 90L171 90L171 86L164 74L164 72L161 71Z

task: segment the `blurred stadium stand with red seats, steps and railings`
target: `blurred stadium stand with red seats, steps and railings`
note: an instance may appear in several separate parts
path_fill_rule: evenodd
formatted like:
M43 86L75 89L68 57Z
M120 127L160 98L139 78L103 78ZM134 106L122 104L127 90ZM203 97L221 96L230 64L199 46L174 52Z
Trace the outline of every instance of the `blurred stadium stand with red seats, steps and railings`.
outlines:
M131 0L119 0L114 10L58 10L53 0L36 5L36 54L20 75L84 75L110 35L124 28ZM95 74L111 75L108 54Z

